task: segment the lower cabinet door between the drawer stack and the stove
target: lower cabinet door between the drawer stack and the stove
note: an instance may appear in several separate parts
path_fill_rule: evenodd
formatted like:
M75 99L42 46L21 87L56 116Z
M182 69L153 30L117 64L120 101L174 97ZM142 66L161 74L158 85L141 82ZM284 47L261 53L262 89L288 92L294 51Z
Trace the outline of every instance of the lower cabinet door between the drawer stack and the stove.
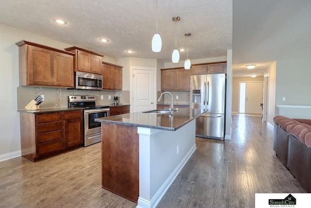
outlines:
M66 147L79 146L83 142L83 118L65 120Z

